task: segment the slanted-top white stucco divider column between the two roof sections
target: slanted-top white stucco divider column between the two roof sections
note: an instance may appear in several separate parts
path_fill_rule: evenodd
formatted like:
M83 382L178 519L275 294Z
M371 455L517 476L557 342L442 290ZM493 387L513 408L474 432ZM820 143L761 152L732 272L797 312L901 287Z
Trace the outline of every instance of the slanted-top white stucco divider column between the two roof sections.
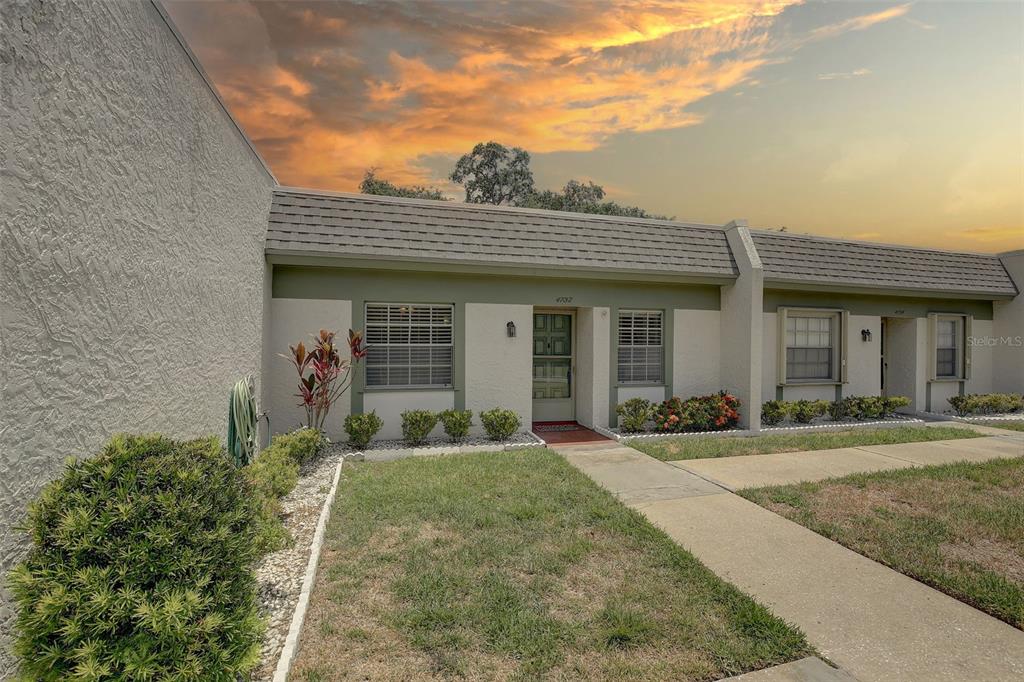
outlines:
M722 388L742 402L740 426L761 430L764 269L745 220L725 225L739 276L722 287Z

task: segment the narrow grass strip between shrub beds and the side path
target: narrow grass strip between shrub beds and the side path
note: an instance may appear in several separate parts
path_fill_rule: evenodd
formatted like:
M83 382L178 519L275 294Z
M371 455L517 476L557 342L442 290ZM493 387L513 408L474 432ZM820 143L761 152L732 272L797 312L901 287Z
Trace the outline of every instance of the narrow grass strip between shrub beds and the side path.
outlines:
M846 431L818 431L816 433L773 433L752 437L701 437L634 438L626 444L651 457L672 462L675 460L700 460L712 457L738 457L740 455L771 455L809 450L882 445L896 442L923 440L952 440L977 438L967 428L954 426L899 426L882 429L849 429Z

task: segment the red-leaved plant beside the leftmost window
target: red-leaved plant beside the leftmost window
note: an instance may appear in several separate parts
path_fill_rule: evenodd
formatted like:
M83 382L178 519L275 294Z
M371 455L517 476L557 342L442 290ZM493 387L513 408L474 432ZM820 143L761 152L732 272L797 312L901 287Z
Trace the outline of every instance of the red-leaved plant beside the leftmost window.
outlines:
M352 367L367 356L362 345L362 332L348 330L349 357L343 358L335 343L337 332L322 329L313 334L308 351L301 341L289 346L291 355L282 354L292 361L299 374L299 407L306 411L306 426L324 430L331 407L352 385Z

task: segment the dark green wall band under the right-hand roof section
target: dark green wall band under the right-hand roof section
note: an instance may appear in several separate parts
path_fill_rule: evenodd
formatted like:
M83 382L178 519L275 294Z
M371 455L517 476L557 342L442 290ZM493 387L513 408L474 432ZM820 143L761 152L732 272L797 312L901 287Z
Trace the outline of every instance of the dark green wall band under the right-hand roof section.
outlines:
M855 315L879 315L882 317L925 317L929 312L961 312L974 315L975 319L992 318L991 301L766 289L764 311L775 312L779 306L841 308L849 310Z

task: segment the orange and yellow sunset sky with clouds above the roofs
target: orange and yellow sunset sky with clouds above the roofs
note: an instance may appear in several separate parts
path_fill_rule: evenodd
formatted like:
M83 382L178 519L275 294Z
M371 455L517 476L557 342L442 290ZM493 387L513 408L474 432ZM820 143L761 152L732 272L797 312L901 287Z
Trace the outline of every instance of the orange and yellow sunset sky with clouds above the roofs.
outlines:
M1024 247L1019 2L165 4L285 184L461 199L493 139L681 220Z

